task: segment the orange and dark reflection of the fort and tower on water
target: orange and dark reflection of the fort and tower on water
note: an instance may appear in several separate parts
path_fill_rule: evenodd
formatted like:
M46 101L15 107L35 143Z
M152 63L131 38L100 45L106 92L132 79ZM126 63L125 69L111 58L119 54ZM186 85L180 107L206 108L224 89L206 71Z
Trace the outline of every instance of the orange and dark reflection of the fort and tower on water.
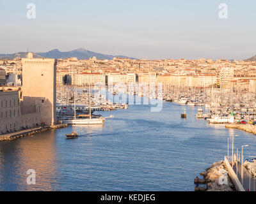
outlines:
M1 143L0 149L1 190L54 190L58 177L54 131ZM36 171L36 185L27 184L29 169Z

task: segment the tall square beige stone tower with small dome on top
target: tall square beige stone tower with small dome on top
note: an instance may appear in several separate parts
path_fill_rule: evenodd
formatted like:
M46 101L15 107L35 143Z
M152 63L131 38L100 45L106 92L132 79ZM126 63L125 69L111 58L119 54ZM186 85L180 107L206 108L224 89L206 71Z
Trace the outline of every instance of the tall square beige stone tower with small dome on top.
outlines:
M22 58L24 112L36 108L47 125L56 123L56 64L56 59L35 59L31 52L28 58Z

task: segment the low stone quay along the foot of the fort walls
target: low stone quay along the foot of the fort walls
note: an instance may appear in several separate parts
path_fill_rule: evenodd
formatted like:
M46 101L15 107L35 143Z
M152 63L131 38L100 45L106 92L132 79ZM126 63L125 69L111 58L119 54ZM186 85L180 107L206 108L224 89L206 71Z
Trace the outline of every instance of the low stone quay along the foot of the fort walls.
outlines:
M0 135L0 142L15 140L17 138L21 138L21 137L29 136L29 135L35 135L36 133L42 133L42 132L48 131L50 129L67 128L67 126L68 126L68 124L58 124L58 125L54 125L54 126L31 128L31 129L25 129L22 131L17 131L15 133L8 133L5 135Z

